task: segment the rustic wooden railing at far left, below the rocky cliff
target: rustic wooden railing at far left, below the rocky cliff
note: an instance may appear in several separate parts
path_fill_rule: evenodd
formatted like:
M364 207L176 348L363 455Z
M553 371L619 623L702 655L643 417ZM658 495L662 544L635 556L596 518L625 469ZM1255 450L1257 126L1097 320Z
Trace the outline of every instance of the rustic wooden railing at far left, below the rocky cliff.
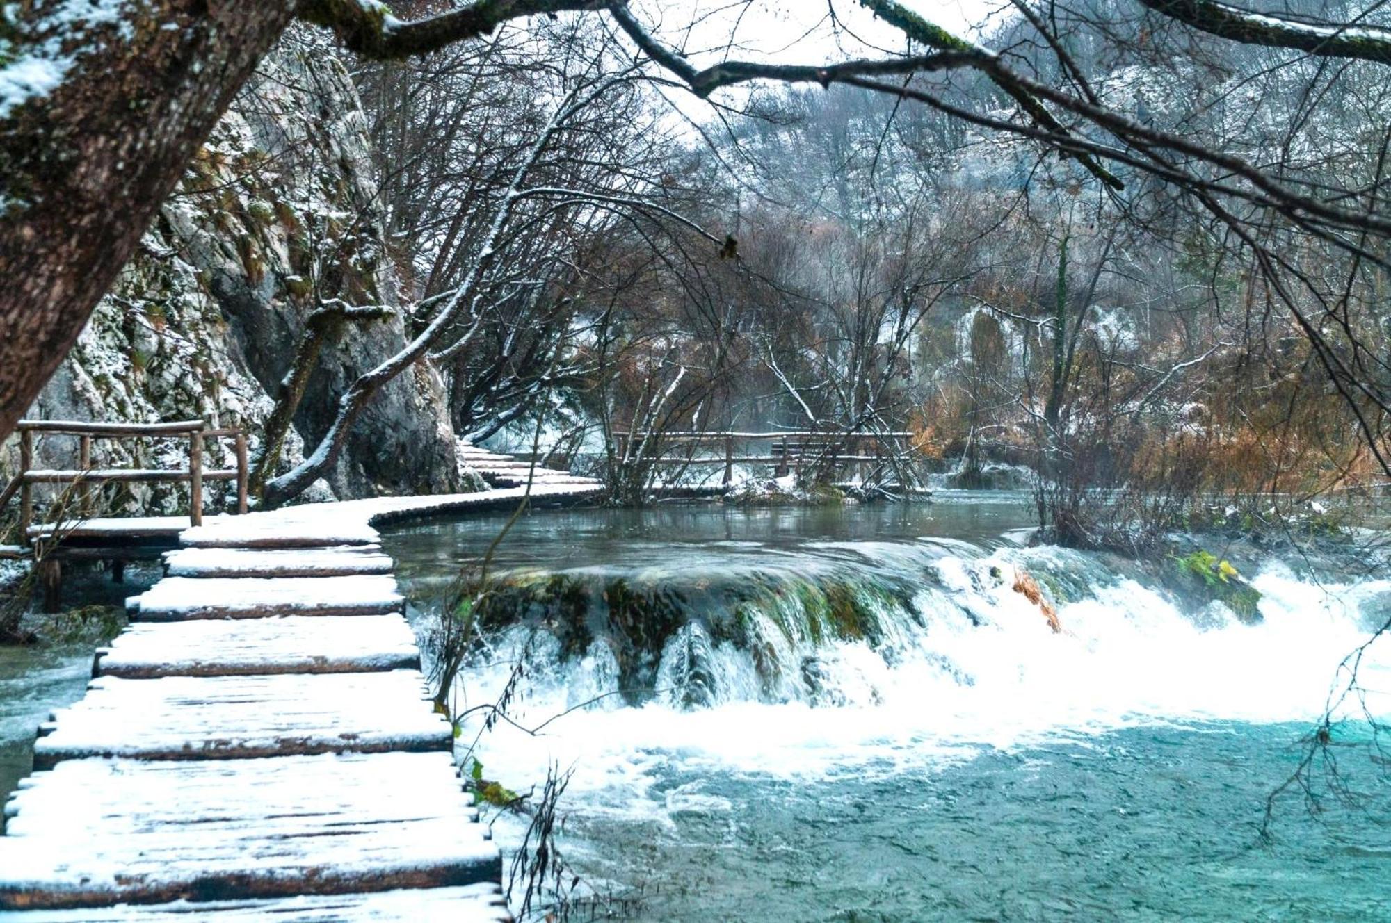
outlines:
M15 427L19 434L19 471L10 478L0 507L19 495L19 535L29 534L33 521L33 487L36 484L72 484L82 489L78 493L78 509L82 517L93 514L92 484L181 484L189 485L189 520L193 525L203 523L203 484L207 481L236 481L236 512L246 512L246 434L241 430L210 430L202 420L179 423L86 423L81 420L21 420ZM33 467L35 434L78 438L78 467L36 468ZM188 439L186 468L93 468L93 439ZM232 439L236 457L235 468L203 468L203 455L209 439Z

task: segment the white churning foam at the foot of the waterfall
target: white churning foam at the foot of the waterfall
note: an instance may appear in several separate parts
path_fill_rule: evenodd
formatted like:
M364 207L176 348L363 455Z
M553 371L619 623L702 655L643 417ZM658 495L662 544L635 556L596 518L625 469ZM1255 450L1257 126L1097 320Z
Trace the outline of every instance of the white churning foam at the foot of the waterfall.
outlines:
M1193 620L1164 594L1113 575L1092 581L1092 598L1059 607L1056 635L1020 594L983 578L992 566L1050 553L1067 555L939 559L942 585L917 599L926 631L897 624L881 651L842 642L817 651L844 705L759 702L747 652L716 645L708 667L723 695L714 708L682 710L664 696L630 708L609 696L538 737L499 724L481 744L488 776L530 784L558 763L573 767L570 792L587 792L587 813L652 817L672 805L651 784L673 773L828 778L942 767L982 748L1086 741L1141 724L1312 721L1338 664L1366 641L1370 606L1391 594L1391 581L1316 585L1273 564L1253 581L1264 619L1244 624L1221 606ZM605 656L591 651L534 671L515 720L538 724L604 691L616 676ZM473 702L505 680L508 659L466 671ZM1391 641L1372 645L1359 678L1370 708L1391 714ZM1340 713L1358 717L1359 708L1344 703Z

